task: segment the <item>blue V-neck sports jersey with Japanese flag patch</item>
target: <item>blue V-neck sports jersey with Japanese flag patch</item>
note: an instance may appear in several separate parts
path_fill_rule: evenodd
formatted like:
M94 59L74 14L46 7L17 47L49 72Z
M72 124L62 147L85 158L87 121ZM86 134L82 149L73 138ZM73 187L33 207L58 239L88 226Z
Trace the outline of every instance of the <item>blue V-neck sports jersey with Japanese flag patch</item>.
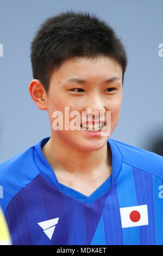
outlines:
M163 245L163 157L108 139L112 174L89 197L60 184L49 137L0 164L13 245Z

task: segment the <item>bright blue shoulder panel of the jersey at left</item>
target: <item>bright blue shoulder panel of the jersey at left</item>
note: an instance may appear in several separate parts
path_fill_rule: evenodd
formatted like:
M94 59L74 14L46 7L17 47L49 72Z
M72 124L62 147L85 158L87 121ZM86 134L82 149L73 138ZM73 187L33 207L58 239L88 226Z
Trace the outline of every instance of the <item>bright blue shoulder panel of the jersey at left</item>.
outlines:
M10 200L39 174L33 156L34 147L0 164L0 204L4 213Z

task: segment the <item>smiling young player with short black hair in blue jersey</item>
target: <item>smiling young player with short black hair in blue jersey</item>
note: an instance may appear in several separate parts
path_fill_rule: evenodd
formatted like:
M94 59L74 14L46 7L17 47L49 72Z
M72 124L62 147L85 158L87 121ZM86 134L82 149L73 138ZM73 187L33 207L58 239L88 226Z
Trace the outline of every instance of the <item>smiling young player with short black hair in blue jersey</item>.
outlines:
M41 25L31 50L29 92L51 137L0 166L12 244L162 245L163 159L109 139L127 66L121 40L95 15L67 11ZM66 107L79 129L65 129Z

